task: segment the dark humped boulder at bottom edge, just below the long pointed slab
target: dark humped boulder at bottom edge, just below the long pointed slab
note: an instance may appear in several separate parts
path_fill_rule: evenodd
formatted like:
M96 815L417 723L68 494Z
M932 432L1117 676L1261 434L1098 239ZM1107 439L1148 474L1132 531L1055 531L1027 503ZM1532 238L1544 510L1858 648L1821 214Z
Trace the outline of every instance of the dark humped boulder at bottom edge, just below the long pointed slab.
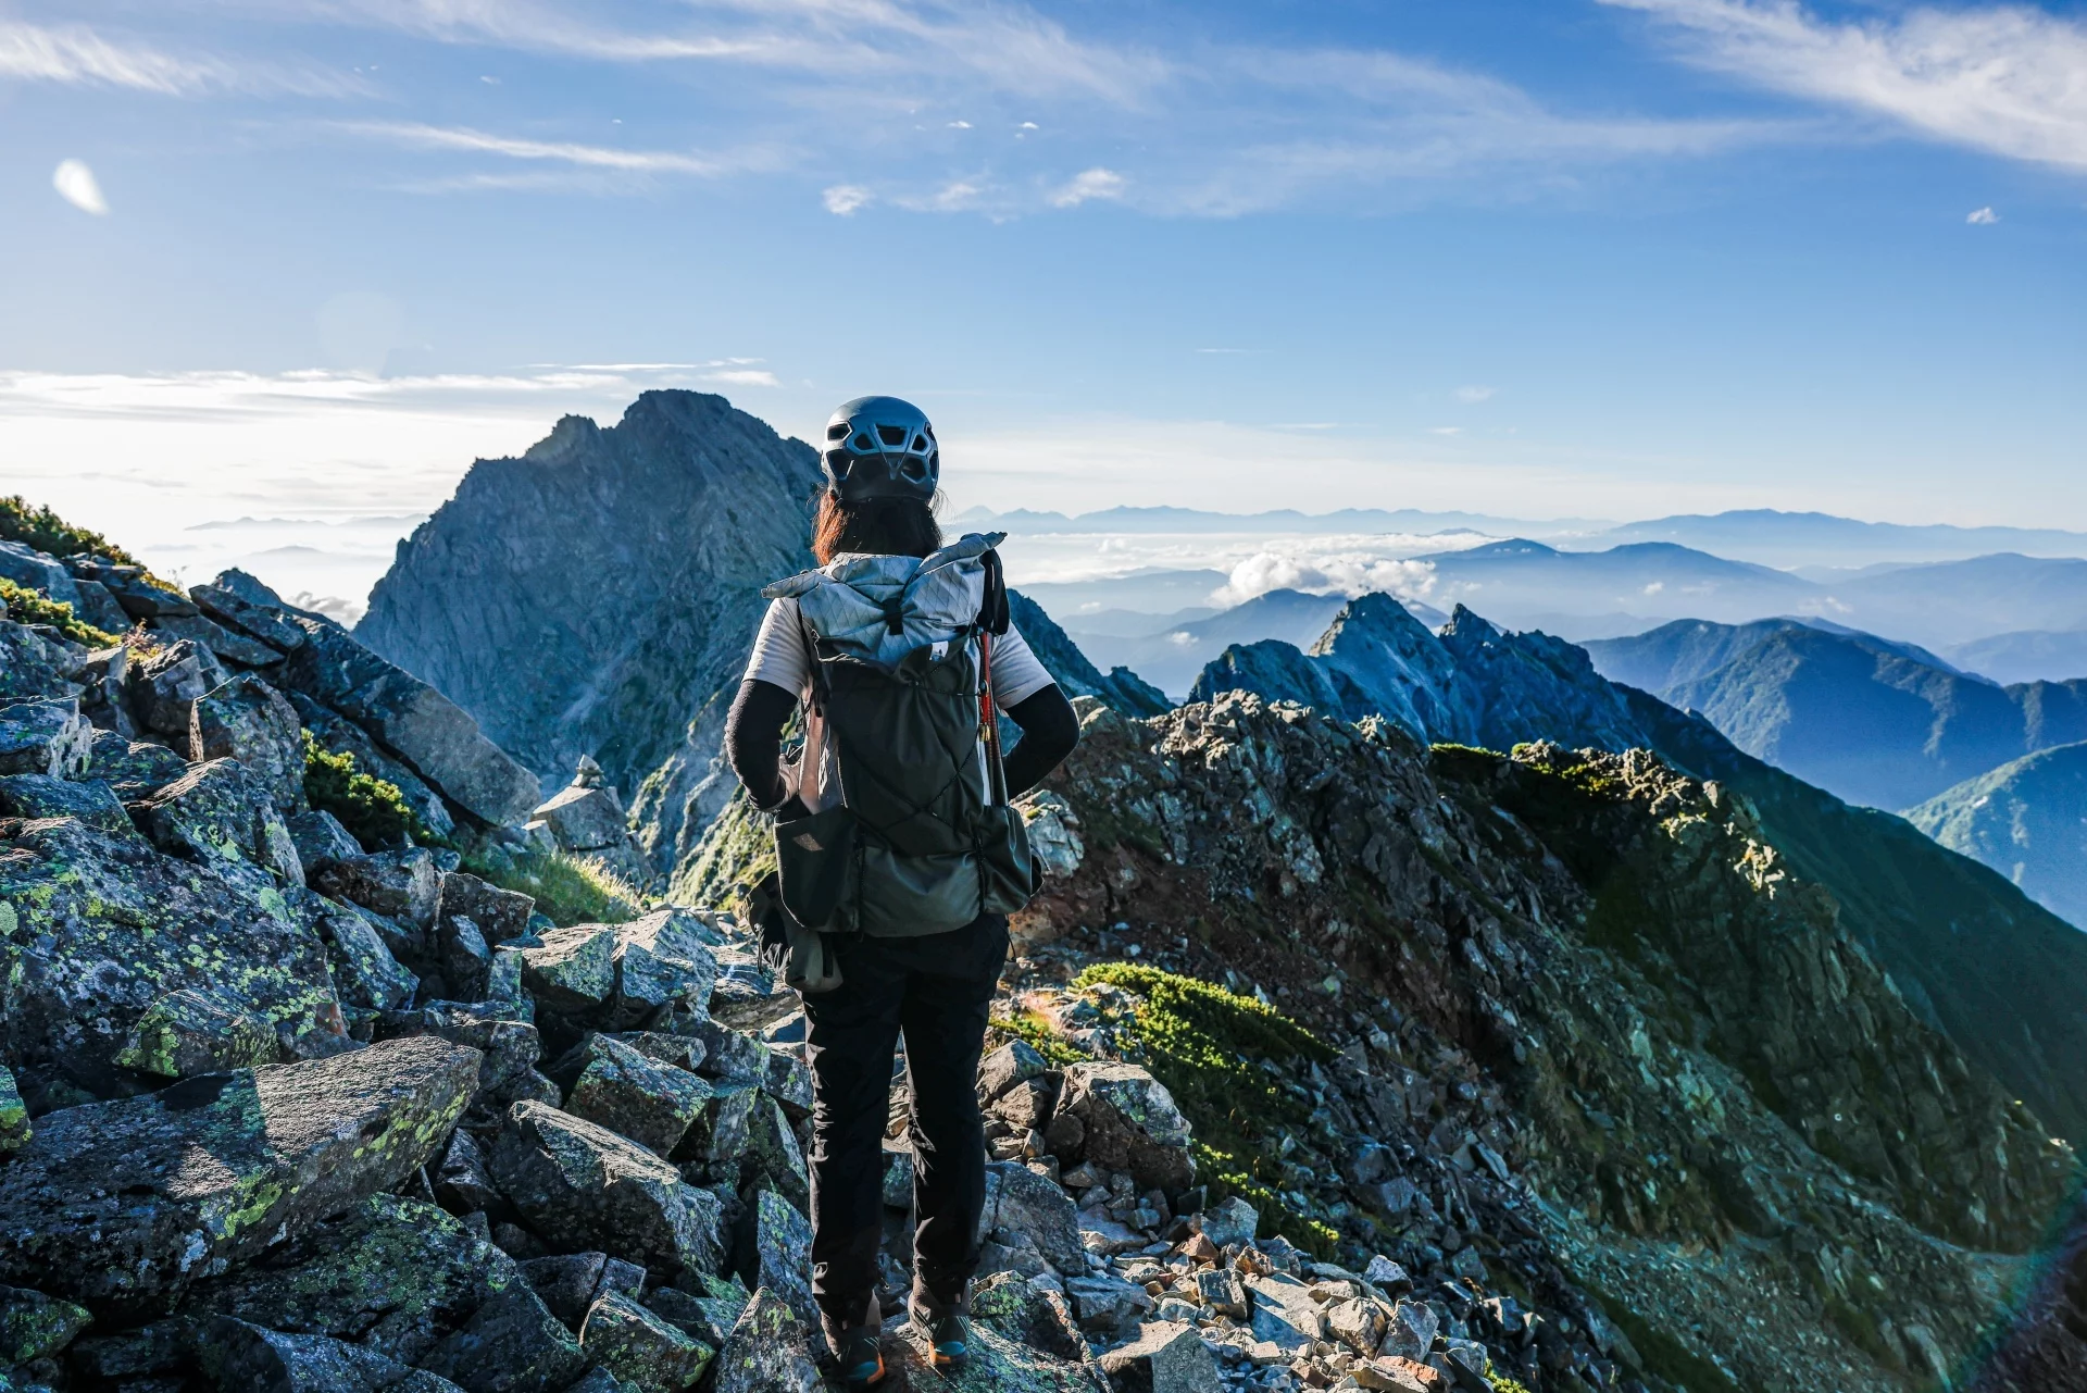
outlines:
M561 1389L584 1366L515 1259L397 1195L374 1195L253 1266L198 1282L182 1312L353 1341L465 1393Z

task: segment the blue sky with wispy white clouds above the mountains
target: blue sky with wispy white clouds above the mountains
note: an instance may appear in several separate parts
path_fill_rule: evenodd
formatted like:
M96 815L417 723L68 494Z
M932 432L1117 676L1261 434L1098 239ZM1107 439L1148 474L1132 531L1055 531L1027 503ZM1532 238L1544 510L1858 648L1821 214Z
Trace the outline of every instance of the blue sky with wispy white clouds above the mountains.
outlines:
M2079 4L13 0L0 125L0 455L134 537L649 384L960 503L2087 528Z

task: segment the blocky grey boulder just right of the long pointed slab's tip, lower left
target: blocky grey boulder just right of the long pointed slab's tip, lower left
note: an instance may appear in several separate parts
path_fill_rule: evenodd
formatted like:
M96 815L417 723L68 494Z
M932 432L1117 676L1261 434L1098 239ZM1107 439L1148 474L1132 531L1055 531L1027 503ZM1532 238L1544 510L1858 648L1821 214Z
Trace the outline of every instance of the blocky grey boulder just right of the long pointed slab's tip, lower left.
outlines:
M553 1245L601 1249L666 1272L718 1270L718 1197L607 1128L543 1103L515 1103L486 1165Z

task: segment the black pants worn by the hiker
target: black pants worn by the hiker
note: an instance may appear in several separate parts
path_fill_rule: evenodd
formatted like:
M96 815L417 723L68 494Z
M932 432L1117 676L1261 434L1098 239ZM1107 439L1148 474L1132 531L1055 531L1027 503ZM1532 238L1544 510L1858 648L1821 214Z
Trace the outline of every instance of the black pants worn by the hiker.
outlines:
M835 940L841 986L803 998L812 1063L812 1295L837 1326L862 1324L883 1241L883 1138L891 1057L906 1034L912 1086L914 1276L937 1303L979 1266L985 1124L979 1050L1008 921L954 934Z

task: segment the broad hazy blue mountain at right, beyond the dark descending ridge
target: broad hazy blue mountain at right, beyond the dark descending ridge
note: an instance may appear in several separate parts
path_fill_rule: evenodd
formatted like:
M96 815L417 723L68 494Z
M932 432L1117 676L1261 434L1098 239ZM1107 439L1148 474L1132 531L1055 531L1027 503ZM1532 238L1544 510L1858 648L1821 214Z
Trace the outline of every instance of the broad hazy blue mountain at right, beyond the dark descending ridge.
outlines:
M1999 687L1845 629L1680 620L1584 647L1605 677L1699 710L1747 754L1874 808L1910 808L2087 739L2087 681Z

